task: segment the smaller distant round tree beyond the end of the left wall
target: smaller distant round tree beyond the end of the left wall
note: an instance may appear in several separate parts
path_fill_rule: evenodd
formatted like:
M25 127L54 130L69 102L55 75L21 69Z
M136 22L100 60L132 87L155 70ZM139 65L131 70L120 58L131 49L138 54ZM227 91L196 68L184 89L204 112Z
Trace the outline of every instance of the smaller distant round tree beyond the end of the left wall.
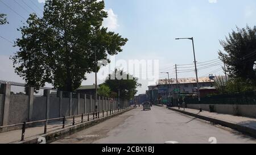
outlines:
M138 78L131 76L123 72L123 70L117 70L112 74L109 74L105 80L105 85L109 86L110 89L118 95L120 90L121 99L131 99L138 92L137 87L141 87L141 83L138 83Z

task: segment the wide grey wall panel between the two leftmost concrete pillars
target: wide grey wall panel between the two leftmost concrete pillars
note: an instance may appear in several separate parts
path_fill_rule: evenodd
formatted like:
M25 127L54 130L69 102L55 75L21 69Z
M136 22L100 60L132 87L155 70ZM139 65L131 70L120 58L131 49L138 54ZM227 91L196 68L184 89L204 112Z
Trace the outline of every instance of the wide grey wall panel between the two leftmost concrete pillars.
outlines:
M28 121L28 96L10 95L9 122L18 124Z

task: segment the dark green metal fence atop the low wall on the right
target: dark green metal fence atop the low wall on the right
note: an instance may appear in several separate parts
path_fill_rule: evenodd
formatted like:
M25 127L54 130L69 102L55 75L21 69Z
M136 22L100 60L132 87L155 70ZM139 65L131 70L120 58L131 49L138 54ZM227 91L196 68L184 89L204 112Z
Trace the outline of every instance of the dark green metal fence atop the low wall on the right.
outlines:
M229 95L214 95L212 97L201 98L201 101L197 97L186 97L184 99L186 104L244 104L255 105L256 93L248 92L244 94L229 94Z

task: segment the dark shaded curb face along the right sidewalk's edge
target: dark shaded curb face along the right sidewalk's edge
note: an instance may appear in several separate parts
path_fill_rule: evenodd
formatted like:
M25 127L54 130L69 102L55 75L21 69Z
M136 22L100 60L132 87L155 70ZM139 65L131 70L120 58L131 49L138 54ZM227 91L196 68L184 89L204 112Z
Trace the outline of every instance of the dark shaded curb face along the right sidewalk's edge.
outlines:
M196 117L199 119L207 120L208 122L219 124L219 125L222 125L222 126L225 126L228 128L232 128L232 129L235 129L236 131L244 133L245 135L256 138L256 129L253 129L253 128L245 127L243 125L234 124L234 123L230 123L230 122L225 122L224 120L214 119L214 118L210 118L207 116L193 114L191 112L187 112L187 111L183 111L183 110L177 110L174 108L168 108L168 109L176 111L176 112L180 112L182 114L190 115L190 116L193 116L193 117Z

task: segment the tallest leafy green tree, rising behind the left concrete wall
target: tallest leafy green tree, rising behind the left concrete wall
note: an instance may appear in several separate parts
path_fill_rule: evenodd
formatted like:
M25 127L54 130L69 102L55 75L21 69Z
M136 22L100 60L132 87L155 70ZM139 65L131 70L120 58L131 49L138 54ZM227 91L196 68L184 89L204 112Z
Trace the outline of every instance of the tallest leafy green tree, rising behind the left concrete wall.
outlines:
M108 60L127 42L102 27L108 17L104 7L96 0L47 0L43 17L31 14L19 28L19 51L11 57L16 73L36 88L48 82L59 90L76 90L86 73L95 72L96 50L97 61Z

